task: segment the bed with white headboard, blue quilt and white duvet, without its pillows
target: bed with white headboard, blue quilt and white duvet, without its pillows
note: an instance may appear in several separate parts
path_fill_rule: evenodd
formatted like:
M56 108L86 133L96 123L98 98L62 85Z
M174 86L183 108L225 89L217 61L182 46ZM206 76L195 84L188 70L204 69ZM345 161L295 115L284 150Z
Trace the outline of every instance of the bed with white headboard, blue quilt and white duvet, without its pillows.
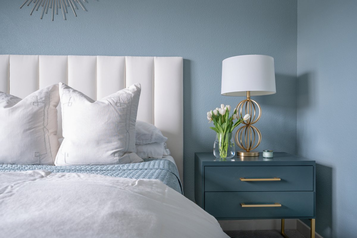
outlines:
M155 125L171 151L129 164L1 164L2 234L227 237L215 218L182 195L182 69L181 57L0 55L0 91L19 98L61 82L99 100L140 83L136 119ZM61 103L57 110L61 140Z

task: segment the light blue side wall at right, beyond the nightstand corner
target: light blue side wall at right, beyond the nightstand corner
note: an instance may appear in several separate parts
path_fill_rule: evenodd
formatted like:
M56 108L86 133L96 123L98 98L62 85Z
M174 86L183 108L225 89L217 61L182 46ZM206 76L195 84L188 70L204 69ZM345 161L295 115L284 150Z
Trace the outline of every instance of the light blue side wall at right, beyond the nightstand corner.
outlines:
M316 160L316 229L357 236L357 2L298 1L298 155Z

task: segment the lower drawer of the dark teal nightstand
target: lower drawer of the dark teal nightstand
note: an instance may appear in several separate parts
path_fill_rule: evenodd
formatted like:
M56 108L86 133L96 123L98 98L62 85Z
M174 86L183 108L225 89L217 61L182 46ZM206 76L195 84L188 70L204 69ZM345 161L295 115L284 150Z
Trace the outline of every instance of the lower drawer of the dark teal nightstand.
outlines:
M242 207L241 203L281 207ZM205 210L217 219L308 218L314 216L314 192L206 192Z

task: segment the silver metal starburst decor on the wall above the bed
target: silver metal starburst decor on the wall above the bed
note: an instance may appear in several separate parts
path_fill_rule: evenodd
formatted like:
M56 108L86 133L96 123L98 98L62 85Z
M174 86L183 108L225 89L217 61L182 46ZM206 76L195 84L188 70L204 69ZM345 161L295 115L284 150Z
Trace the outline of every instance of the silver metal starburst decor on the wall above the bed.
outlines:
M75 16L77 16L76 10L80 10L80 8L82 8L83 11L86 11L81 1L83 1L83 3L86 3L85 0L26 0L20 6L20 9L26 3L27 6L30 6L30 4L32 3L33 7L30 12L30 15L34 13L34 10L38 11L40 9L40 19L42 19L44 14L47 14L47 11L50 9L50 13L52 11L52 21L54 19L54 15L60 14L60 11L62 11L63 19L66 20L66 14L68 13L67 9L69 8L72 9Z

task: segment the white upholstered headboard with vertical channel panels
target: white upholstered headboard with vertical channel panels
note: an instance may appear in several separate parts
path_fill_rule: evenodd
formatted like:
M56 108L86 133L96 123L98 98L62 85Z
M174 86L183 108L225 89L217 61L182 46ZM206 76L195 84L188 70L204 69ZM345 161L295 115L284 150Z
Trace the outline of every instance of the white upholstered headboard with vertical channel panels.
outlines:
M95 100L141 83L137 119L154 124L169 138L167 147L182 181L182 57L0 55L0 91L24 98L59 82Z

